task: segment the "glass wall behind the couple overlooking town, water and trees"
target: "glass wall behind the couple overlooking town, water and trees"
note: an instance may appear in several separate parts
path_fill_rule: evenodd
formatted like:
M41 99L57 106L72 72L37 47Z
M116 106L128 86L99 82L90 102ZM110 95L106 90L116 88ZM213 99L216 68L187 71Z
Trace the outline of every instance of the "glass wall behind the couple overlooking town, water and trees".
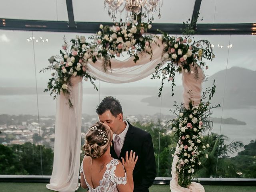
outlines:
M43 92L51 72L39 71L48 66L50 56L59 53L63 35L69 41L76 34L0 31L0 158L5 159L0 161L2 175L52 172L56 101ZM212 130L204 133L210 144L209 158L196 175L256 178L250 171L255 170L256 161L256 36L195 36L195 40L199 39L214 45L216 58L207 62L208 81L203 88L212 86L215 79L212 104L221 107L211 116ZM177 141L168 125L174 118L169 110L174 100L182 102L181 76L176 76L174 96L171 85L166 83L160 98L160 80L150 78L126 84L96 80L98 92L84 81L81 146L88 127L98 120L96 106L105 96L114 96L122 104L124 118L152 135L157 176L171 177L171 154Z

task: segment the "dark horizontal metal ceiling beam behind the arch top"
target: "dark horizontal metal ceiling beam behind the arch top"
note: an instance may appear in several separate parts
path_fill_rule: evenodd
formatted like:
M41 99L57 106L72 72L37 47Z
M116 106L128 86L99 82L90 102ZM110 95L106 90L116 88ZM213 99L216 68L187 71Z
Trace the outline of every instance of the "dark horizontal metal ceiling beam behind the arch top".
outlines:
M49 31L49 32L76 32L96 33L100 24L113 25L113 23L101 22L76 22L75 28L68 27L66 21L37 21L37 20L15 20L1 19L0 30L22 30L22 31ZM152 24L148 32L160 34L157 29L168 34L182 34L184 24ZM197 24L196 34L200 35L249 35L256 34L256 23L242 24Z

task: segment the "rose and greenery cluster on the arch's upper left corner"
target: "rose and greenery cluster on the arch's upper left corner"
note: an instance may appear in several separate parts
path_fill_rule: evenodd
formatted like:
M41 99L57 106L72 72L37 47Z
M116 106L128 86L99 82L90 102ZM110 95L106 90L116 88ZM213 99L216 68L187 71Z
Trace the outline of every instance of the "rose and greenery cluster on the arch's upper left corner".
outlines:
M54 95L53 98L56 99L57 95L62 91L68 100L70 108L72 108L73 105L70 100L71 77L80 76L86 81L89 79L94 88L96 90L98 88L94 84L95 78L90 76L87 68L87 63L94 56L85 57L85 53L90 49L85 37L76 36L76 39L72 39L70 42L72 43L71 46L67 44L64 36L64 44L62 45L62 50L60 50L60 55L51 56L49 59L50 65L40 70L40 73L54 70L52 72L52 78L48 81L47 89L44 92L50 92L50 95Z

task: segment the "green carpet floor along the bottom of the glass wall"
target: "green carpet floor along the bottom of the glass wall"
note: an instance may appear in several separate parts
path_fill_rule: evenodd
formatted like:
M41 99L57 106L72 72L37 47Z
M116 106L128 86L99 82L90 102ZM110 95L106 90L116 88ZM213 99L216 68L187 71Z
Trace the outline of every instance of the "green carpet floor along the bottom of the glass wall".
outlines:
M205 192L256 192L256 186L204 186ZM78 192L86 192L80 188ZM153 185L150 192L170 192L169 185ZM0 192L51 192L45 183L1 183Z

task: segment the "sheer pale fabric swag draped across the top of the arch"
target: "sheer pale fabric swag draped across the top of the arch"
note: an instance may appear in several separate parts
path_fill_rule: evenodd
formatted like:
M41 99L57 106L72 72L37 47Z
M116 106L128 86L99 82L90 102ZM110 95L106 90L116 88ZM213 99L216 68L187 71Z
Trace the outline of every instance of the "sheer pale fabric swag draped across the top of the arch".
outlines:
M102 61L96 61L95 63L88 64L90 74L96 79L108 82L108 83L128 83L141 80L154 73L155 67L161 62L161 54L164 46L162 42L155 39L156 44L152 43L153 56L150 61L150 55L141 54L139 60L134 63L133 57L130 57L124 61L116 59L111 60L111 69L107 72L102 70ZM158 45L159 44L159 47Z

